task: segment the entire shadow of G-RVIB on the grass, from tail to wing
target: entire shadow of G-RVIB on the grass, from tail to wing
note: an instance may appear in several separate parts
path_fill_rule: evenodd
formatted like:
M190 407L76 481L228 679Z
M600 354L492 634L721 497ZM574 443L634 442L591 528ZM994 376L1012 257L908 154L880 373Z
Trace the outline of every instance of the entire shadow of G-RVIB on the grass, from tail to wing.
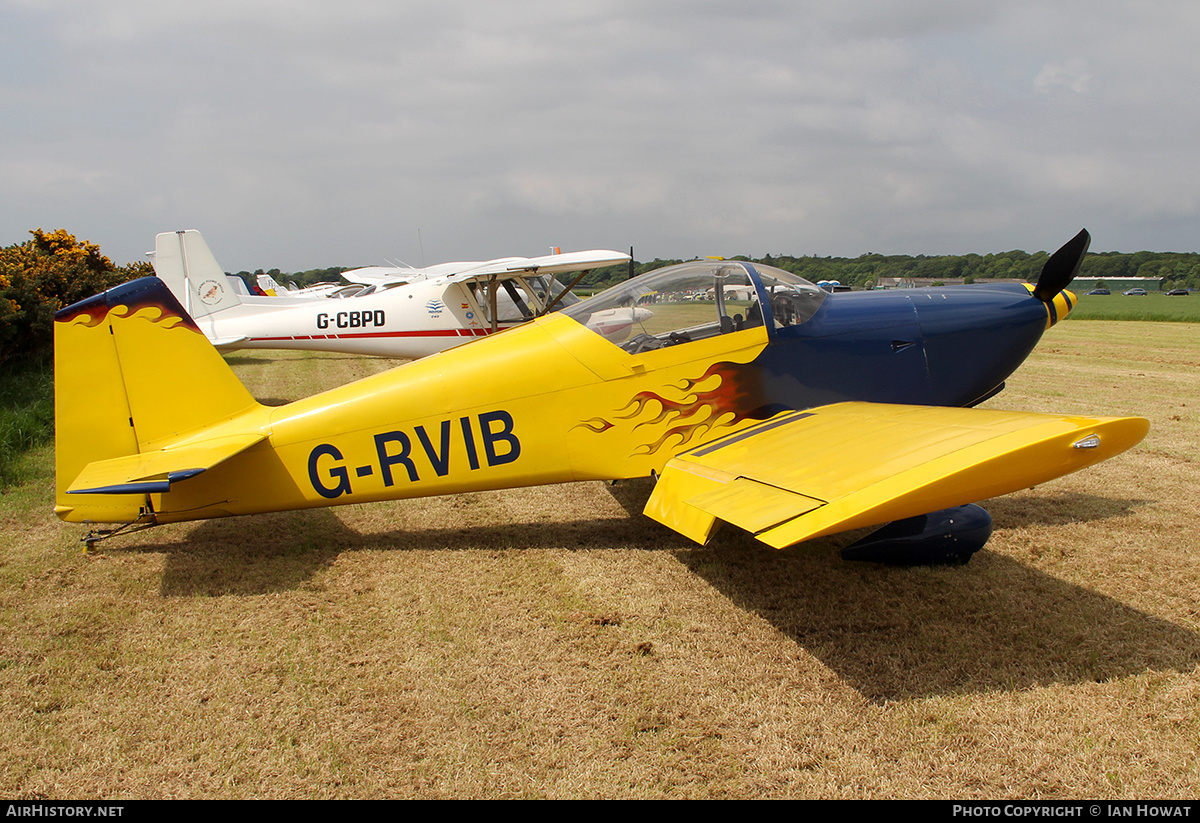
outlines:
M646 488L614 489L638 505ZM1103 521L1142 500L1079 493L992 500L1001 530ZM1074 512L1069 515L1068 512ZM1080 516L1080 512L1086 512ZM646 518L556 519L359 534L328 510L209 521L166 548L164 596L253 595L304 584L353 551L641 546L672 552L871 701L1104 681L1200 663L1200 635L1013 558L984 551L958 567L847 563L858 533L767 551L727 529L696 547ZM138 551L138 549L134 549Z

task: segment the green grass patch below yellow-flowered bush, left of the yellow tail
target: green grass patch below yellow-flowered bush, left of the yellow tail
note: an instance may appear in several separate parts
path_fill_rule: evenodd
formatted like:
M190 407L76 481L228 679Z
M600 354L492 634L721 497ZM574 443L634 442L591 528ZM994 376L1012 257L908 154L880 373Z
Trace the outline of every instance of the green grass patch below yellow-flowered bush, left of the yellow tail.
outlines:
M24 482L22 458L54 439L50 355L0 364L0 488Z

